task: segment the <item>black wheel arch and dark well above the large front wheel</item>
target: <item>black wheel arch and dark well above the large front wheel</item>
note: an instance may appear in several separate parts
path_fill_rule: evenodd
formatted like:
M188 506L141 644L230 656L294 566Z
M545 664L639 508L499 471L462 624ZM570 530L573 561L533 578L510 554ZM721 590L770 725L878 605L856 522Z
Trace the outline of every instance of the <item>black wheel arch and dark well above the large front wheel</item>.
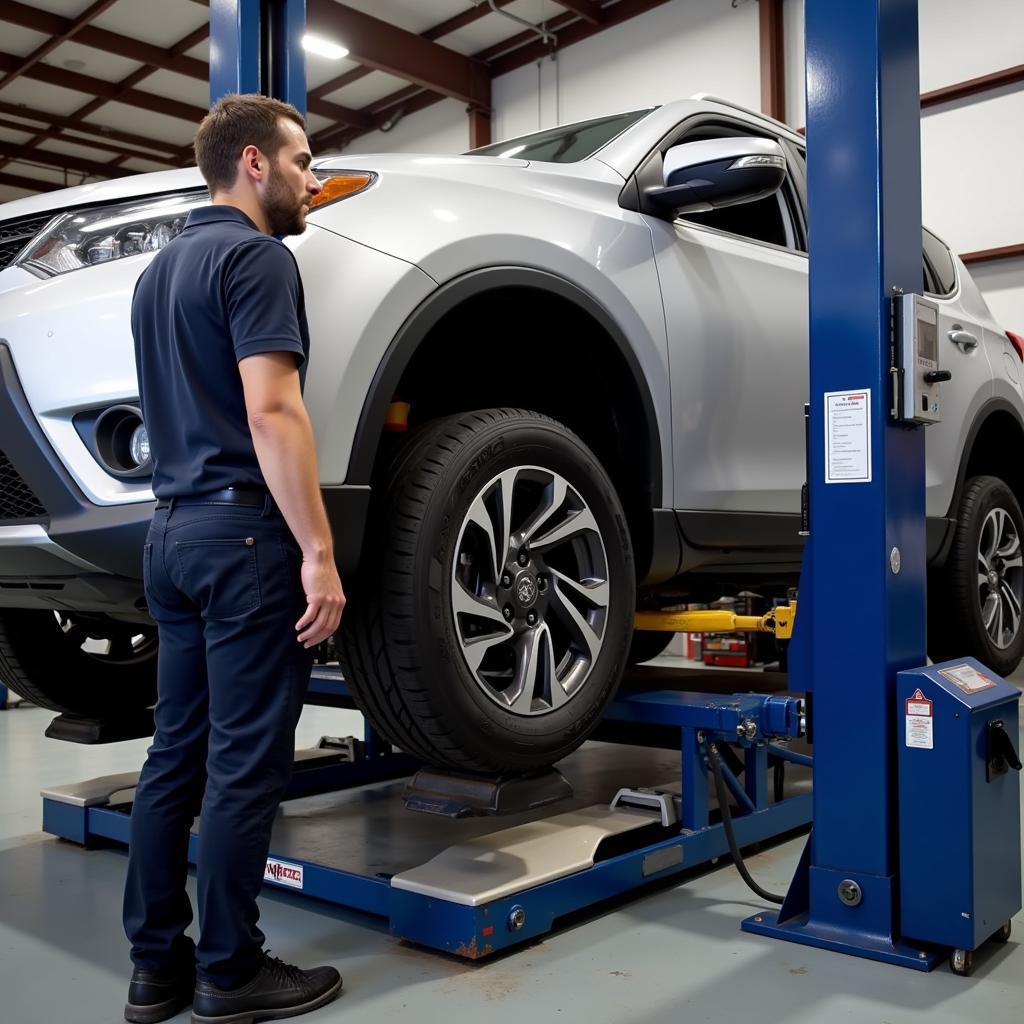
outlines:
M487 344L479 339L481 322ZM570 325L573 330L565 330ZM558 345L550 344L552 336ZM577 406L560 402L549 382L517 369L524 353L553 360L556 368L571 366L581 391L592 387L594 396ZM506 367L511 370L500 374ZM517 375L511 383L498 380ZM602 460L626 507L637 563L649 559L650 512L663 500L653 397L625 332L578 285L532 267L499 266L471 271L433 292L402 325L377 369L359 414L348 483L373 482L395 398L411 402L414 424L417 418L498 406L535 408L561 420Z

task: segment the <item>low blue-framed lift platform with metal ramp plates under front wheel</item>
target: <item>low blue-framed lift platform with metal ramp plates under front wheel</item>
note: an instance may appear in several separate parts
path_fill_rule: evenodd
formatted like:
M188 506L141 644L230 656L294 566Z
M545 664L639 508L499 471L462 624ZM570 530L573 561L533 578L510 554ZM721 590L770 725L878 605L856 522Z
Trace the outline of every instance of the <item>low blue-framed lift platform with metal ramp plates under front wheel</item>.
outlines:
M770 674L691 674L750 685ZM709 749L724 755L740 847L811 821L811 759L792 750L803 701L776 693L666 688L679 674L633 670L601 735L559 778L492 795L502 780L402 781L421 766L379 737L322 740L297 754L271 840L265 884L387 919L391 933L479 959L536 938L574 911L671 879L729 852L711 796ZM776 682L776 686L783 683ZM312 696L350 706L340 673L313 673ZM635 745L646 737L657 746ZM671 745L670 745L671 744ZM781 784L782 769L796 766ZM126 844L136 774L43 793L44 830L84 846ZM438 813L408 810L424 792ZM460 804L460 798L469 795ZM496 815L496 810L506 813ZM189 845L195 863L196 835Z

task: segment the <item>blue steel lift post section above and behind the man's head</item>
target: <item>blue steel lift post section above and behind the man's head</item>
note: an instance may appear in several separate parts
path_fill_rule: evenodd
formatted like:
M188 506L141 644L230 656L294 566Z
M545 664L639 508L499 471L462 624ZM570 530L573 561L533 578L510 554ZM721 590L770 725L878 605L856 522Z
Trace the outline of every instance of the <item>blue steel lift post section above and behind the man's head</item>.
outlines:
M306 0L210 0L210 103L261 92L305 114Z

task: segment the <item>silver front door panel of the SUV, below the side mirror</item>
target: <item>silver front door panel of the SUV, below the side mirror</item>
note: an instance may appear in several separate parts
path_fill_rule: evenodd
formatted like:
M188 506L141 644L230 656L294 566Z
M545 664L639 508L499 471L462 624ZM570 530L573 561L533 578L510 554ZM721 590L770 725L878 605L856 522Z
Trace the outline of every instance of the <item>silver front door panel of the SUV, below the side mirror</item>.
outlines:
M749 133L738 124L721 130ZM807 254L793 170L766 199L651 221L669 334L677 509L800 512Z

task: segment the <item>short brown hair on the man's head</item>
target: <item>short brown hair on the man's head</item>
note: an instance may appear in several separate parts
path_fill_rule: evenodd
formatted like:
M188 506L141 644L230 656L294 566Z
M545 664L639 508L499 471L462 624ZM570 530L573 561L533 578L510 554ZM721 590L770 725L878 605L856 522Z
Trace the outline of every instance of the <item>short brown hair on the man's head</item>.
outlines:
M280 118L294 121L303 131L306 122L291 103L258 93L221 96L196 132L196 163L210 191L230 188L238 177L239 157L247 145L255 145L275 157L285 142Z

